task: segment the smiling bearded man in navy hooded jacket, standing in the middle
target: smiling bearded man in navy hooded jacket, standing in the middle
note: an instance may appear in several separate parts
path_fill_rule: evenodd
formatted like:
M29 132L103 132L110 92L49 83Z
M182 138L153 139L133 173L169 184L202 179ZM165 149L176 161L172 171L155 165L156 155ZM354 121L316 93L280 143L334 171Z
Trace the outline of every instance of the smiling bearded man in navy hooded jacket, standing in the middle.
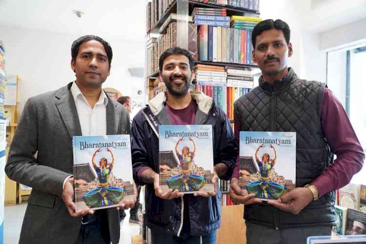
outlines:
M152 243L216 243L220 226L221 192L162 193L159 185L159 125L212 125L214 168L218 177L232 175L237 148L229 120L212 98L189 89L194 75L191 54L172 47L159 58L159 78L167 92L150 100L132 124L134 179L146 184L147 226ZM216 181L215 176L212 180Z

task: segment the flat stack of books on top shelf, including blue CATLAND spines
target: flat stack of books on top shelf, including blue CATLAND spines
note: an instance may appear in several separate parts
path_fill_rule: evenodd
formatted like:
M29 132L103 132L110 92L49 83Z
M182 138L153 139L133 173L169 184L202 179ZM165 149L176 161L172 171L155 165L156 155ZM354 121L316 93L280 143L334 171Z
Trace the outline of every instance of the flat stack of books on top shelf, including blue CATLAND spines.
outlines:
M192 18L196 25L230 26L230 17L226 16L226 9L194 8Z

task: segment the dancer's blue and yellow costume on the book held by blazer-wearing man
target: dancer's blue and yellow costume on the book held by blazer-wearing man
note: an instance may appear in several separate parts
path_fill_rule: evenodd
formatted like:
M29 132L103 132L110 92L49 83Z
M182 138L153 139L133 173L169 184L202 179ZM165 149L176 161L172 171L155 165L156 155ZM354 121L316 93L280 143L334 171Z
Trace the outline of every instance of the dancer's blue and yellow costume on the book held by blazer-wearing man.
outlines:
M125 191L123 188L109 185L110 168L96 168L100 185L86 193L83 197L86 205L90 208L105 207L118 204L124 199Z

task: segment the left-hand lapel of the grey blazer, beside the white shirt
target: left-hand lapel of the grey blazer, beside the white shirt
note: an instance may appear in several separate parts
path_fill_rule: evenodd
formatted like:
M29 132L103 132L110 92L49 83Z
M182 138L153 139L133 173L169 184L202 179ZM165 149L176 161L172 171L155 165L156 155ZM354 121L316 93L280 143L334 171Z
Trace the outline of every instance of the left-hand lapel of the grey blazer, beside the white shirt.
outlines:
M78 111L76 110L75 101L70 91L71 85L72 83L69 83L57 92L56 107L72 139L74 135L82 135L82 133Z

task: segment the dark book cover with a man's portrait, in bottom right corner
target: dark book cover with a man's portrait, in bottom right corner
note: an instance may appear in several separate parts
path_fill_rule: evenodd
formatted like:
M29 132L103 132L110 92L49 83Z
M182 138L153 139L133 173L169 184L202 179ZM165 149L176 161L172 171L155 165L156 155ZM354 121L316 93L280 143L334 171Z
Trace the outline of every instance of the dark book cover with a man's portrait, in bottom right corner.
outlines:
M346 235L365 235L366 234L366 213L347 209Z

